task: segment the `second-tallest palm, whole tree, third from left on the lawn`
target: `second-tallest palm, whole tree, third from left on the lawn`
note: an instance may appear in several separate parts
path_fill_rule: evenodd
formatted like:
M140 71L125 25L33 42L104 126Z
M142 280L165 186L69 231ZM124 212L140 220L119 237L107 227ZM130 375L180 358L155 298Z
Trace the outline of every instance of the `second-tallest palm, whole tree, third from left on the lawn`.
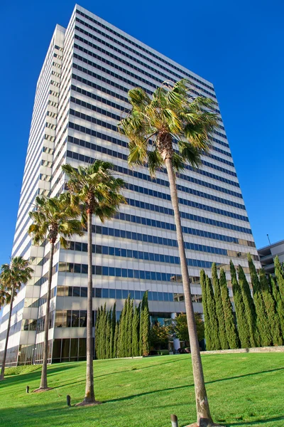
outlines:
M87 372L84 401L81 405L97 404L94 397L93 345L92 345L92 215L102 223L116 214L119 206L126 203L120 194L124 181L111 174L112 164L95 160L88 167L75 169L70 164L62 166L69 176L67 183L71 195L81 201L82 222L87 224L88 233L88 290L87 290ZM77 200L75 200L75 204Z

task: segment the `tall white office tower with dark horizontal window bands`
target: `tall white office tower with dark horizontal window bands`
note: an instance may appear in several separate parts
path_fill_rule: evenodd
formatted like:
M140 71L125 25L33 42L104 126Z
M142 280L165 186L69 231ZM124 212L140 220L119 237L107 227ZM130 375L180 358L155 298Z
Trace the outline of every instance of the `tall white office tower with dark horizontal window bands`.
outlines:
M129 108L129 89L141 86L150 95L163 81L180 78L191 80L192 96L211 97L219 114L212 83L82 7L75 6L66 29L56 26L36 87L13 241L12 255L30 258L35 272L13 304L8 365L42 361L50 248L48 243L31 244L28 212L37 194L56 196L64 190L65 163L87 166L104 159L127 182L128 204L116 218L104 224L93 220L94 311L104 302L111 307L116 301L119 312L129 293L138 303L146 290L153 320L163 322L185 311L167 175L161 171L151 179L146 167L129 169L127 140L116 127ZM201 268L210 274L213 262L226 268L232 259L246 270L248 252L258 260L220 114L212 149L202 163L202 169L187 166L178 176L197 312L202 312ZM87 236L74 237L70 249L56 246L50 362L84 359L86 297ZM8 316L9 306L4 307L1 322L0 352Z

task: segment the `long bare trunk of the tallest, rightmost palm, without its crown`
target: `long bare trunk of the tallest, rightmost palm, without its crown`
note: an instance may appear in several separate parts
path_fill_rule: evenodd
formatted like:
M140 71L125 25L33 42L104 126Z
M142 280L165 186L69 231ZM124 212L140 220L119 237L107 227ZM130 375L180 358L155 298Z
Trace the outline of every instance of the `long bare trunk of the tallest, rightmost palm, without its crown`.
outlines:
M178 250L180 253L180 266L182 271L182 284L185 292L185 310L187 315L187 327L190 335L190 351L192 354L192 372L195 383L195 399L197 408L197 426L211 426L213 421L210 415L209 403L204 384L204 375L200 357L200 346L197 338L197 328L195 325L195 313L193 311L192 296L190 291L190 276L188 274L187 260L185 256L185 243L182 235L182 225L180 221L180 210L178 206L178 191L175 183L175 173L173 171L172 159L165 159L165 167L168 172L170 184L170 198L173 204L175 215L175 226L177 228Z

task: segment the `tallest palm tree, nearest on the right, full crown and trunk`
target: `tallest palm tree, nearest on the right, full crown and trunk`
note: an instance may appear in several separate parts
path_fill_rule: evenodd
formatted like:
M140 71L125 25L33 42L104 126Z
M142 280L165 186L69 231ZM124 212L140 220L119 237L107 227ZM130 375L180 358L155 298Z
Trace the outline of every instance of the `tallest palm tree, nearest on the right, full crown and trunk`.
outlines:
M201 155L210 147L210 132L217 127L214 101L190 97L190 82L182 79L170 85L165 82L153 93L152 99L142 88L129 90L131 111L119 122L119 130L129 138L129 164L148 164L152 176L165 166L170 184L175 226L178 237L182 283L185 292L187 325L190 334L192 367L195 380L197 424L212 424L204 386L200 347L190 292L185 245L182 236L176 174L185 163L198 167ZM210 424L210 425L211 425Z

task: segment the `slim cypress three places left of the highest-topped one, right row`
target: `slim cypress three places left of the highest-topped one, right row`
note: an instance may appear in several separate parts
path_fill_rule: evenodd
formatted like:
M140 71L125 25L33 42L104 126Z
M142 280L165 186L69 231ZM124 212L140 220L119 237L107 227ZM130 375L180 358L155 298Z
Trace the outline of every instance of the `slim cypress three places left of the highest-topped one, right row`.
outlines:
M238 331L236 330L236 325L234 322L233 307L231 305L231 300L229 297L229 289L226 284L226 273L223 268L220 270L220 289L222 297L222 305L224 310L224 320L226 327L226 339L228 340L230 349L239 348L239 336Z

